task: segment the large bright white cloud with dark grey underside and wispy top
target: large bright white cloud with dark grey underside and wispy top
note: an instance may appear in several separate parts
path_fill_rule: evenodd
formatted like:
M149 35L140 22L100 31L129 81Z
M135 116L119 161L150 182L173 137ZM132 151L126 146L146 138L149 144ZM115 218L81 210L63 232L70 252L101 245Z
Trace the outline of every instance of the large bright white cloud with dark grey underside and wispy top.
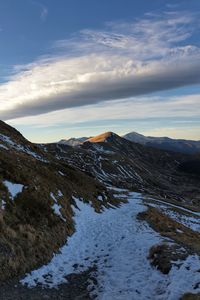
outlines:
M136 96L199 84L200 49L187 43L197 22L188 13L171 12L108 23L104 30L83 30L57 41L55 56L16 66L16 74L0 85L0 118L136 101Z

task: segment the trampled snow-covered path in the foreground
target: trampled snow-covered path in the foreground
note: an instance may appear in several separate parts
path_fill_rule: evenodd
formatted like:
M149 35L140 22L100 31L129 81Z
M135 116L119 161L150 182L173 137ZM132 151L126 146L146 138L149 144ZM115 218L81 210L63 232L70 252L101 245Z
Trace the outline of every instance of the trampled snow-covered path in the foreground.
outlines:
M78 199L76 203L76 232L60 254L28 274L23 284L55 287L66 282L66 275L94 264L98 286L92 293L102 300L178 300L200 281L197 256L189 256L180 269L173 267L169 275L150 266L149 248L162 238L137 220L137 214L145 210L140 194L130 193L129 203L101 214Z

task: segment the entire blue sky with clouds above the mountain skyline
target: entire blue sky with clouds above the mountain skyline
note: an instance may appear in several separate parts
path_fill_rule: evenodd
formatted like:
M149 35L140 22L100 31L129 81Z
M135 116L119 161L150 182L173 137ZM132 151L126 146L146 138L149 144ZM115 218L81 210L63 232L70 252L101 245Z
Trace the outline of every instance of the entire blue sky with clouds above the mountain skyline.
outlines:
M0 119L200 140L199 33L199 0L0 0Z

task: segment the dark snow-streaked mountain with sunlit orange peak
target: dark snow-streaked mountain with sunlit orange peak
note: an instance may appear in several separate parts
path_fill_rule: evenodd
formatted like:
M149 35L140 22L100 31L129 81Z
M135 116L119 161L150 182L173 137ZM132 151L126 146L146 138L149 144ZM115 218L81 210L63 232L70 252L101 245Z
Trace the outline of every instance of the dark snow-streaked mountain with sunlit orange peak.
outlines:
M112 132L92 137L78 148L59 143L45 147L60 161L106 185L199 206L199 178L181 169L190 155L146 147Z

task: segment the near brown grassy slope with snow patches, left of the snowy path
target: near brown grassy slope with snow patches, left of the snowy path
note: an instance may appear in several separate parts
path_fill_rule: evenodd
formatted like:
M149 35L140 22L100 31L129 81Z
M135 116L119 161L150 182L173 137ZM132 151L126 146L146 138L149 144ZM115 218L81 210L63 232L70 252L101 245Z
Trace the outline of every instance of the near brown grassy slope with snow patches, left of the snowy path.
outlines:
M74 232L76 198L97 211L113 203L99 181L0 121L0 280L52 257Z

